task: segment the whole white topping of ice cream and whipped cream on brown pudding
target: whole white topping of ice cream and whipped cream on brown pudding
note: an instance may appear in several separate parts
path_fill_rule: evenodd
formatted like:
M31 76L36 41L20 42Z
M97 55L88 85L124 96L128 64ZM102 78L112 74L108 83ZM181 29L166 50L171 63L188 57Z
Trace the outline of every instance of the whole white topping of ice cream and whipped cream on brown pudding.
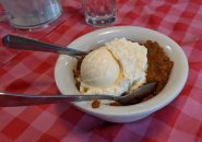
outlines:
M92 52L81 64L82 94L120 95L146 81L147 49L126 38L114 39Z

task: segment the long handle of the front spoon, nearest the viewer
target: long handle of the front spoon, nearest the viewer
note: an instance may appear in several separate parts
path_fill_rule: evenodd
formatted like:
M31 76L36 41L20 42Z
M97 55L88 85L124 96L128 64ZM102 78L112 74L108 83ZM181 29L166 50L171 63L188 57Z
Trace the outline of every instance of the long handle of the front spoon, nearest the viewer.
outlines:
M32 95L0 93L0 107L31 106L56 103L70 103L93 99L117 99L109 95Z

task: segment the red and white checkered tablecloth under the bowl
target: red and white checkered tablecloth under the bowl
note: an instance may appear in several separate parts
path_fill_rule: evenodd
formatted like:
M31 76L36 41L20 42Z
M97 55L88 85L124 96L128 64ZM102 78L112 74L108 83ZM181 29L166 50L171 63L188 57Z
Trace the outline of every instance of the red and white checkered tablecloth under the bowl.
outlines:
M0 23L0 37L17 34L68 45L96 29L85 24L81 1L62 0L63 15L31 33ZM117 0L114 25L144 26L176 40L189 60L189 78L168 106L140 121L110 123L68 104L0 108L0 142L202 142L202 1ZM58 55L9 50L0 43L0 91L56 94Z

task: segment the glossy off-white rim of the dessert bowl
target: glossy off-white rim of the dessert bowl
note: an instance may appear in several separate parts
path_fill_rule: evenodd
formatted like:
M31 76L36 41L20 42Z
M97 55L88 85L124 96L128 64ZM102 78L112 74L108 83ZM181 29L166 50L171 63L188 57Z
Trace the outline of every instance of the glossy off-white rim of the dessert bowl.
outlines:
M164 106L169 104L171 100L174 100L174 98L179 95L180 91L185 86L187 78L188 78L188 72L189 72L187 57L186 57L183 50L181 49L181 47L176 42L174 42L171 38L169 38L168 36L164 35L164 34L162 34L159 32L156 32L156 31L153 31L153 29L150 29L150 28L145 28L145 27L140 27L140 26L111 26L111 27L106 27L106 28L100 28L100 29L96 29L96 31L90 32L90 33L87 33L87 34L85 34L85 35L74 39L73 42L71 42L68 45L68 47L72 48L73 45L76 42L82 40L84 37L99 35L100 33L107 34L107 32L117 32L117 31L121 32L121 31L124 31L124 29L147 32L147 33L153 34L155 36L161 36L161 38L164 38L168 43L171 43L173 48L177 49L178 56L180 56L180 58L182 59L182 60L180 60L180 62L182 63L182 67L183 67L183 70L181 71L182 74L179 74L180 83L178 84L178 86L175 86L176 90L173 90L173 91L168 92L171 95L169 95L169 96L165 96L165 95L162 96L161 94L163 94L165 92L161 92L155 97L153 97L153 98L151 98L151 99L148 99L146 102L140 103L140 104L130 105L130 106L107 106L108 108L110 107L110 109L109 109L109 111L106 111L106 109L100 109L100 108L98 108L98 109L84 108L84 107L81 106L81 103L73 103L73 105L75 107L78 107L79 109L81 109L81 110L83 110L83 111L85 111L87 114L97 115L97 116L100 116L100 117L104 117L104 116L108 116L108 117L110 117L110 116L111 117L112 116L115 116L115 117L117 117L117 116L126 117L126 116L132 116L132 115L139 116L139 115L142 115L142 114L145 114L145 113L153 113L155 110L158 110L158 109L163 108ZM55 80L56 80L56 84L57 84L57 86L58 86L60 92L61 92L61 90L60 90L59 83L57 81L56 68L57 68L58 63L60 62L60 59L62 59L62 58L66 58L66 56L64 55L60 55L58 60L57 60L57 62L56 62L56 67L55 67ZM111 109L112 109L112 111L111 111Z

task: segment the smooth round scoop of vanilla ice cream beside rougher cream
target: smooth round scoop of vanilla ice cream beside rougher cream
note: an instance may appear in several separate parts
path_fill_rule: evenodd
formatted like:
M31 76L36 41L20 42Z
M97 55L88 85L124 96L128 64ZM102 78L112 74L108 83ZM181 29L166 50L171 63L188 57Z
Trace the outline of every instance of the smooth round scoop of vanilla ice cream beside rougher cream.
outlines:
M119 64L106 47L91 51L81 64L81 84L85 87L108 87L118 79Z

